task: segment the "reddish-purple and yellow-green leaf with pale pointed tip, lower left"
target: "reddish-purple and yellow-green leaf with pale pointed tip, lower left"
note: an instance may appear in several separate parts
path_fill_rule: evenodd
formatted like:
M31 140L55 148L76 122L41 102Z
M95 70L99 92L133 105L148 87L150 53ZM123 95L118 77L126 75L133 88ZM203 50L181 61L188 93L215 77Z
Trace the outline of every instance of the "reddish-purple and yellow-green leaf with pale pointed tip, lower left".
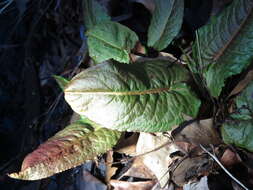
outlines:
M22 180L38 180L81 165L113 147L120 132L93 128L83 122L67 126L28 154L21 171L9 176Z

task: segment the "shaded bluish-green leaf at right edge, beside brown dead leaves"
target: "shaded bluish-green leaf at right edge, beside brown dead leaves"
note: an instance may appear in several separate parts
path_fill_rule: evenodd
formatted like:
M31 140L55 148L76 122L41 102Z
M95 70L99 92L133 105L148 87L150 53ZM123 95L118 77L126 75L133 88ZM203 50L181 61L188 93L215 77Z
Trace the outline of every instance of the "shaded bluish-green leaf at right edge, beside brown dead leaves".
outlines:
M253 82L236 98L236 106L222 126L223 140L253 152Z

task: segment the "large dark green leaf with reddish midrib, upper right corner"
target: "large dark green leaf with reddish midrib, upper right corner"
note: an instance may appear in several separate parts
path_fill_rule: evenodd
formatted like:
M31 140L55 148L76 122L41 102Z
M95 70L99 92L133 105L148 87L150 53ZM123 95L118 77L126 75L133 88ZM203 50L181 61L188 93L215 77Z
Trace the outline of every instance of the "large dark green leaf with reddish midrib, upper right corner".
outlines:
M253 61L253 1L234 0L211 23L199 30L192 70L204 76L213 97L225 80L239 74ZM197 55L199 51L200 57Z

